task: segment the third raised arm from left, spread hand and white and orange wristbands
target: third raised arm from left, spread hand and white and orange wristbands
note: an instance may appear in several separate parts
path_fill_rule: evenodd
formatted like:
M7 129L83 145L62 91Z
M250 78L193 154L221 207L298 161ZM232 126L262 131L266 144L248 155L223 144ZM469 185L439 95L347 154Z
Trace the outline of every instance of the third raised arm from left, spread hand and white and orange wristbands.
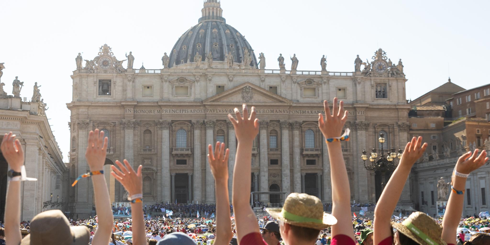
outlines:
M141 177L141 169L138 167L138 172L134 171L133 167L127 160L124 159L124 165L120 161L116 161L121 171L116 166L111 166L111 174L117 179L126 189L129 197L134 196L131 201L131 219L133 222L133 244L145 245L147 238L145 236L145 223L143 221L143 180Z

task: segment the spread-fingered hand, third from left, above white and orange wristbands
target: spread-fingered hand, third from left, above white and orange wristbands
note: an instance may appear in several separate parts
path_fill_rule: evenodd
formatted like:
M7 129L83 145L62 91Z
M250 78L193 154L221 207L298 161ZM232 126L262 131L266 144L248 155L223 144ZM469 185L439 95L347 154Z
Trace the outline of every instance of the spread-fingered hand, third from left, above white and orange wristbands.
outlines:
M111 172L111 175L124 186L124 189L129 193L129 196L143 194L143 180L141 177L141 169L143 166L140 165L138 167L138 172L135 172L126 159L124 159L123 162L124 165L119 160L116 161L116 164L121 171L116 168L116 166L111 166L113 171Z

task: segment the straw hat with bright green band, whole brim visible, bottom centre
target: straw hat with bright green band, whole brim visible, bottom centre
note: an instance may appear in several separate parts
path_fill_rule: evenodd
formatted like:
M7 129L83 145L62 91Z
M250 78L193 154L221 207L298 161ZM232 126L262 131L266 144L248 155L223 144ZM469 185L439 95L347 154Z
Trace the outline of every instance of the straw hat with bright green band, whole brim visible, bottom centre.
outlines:
M322 230L337 223L330 214L323 213L323 204L316 196L291 193L282 208L266 208L274 219L295 226Z

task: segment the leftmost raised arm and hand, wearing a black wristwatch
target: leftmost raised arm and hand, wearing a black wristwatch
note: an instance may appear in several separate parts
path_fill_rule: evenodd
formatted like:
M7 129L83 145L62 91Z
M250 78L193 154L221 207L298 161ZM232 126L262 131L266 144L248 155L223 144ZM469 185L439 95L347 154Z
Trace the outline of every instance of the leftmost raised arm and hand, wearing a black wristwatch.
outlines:
M15 140L15 141L14 141ZM15 145L14 145L15 144ZM24 165L24 151L21 143L12 132L5 134L1 142L1 152L8 166L15 172L21 172ZM5 237L7 245L19 245L22 240L21 223L21 181L10 181L5 203Z

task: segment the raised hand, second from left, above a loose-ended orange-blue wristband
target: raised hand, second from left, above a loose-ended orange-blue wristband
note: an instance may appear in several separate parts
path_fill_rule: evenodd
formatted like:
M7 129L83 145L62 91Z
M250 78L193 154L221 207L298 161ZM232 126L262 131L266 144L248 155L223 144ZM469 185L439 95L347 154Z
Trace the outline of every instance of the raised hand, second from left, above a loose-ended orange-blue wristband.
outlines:
M104 166L105 154L107 153L107 140L107 137L104 137L104 131L99 131L98 128L89 133L89 142L87 151L85 152L85 158L92 171L102 170Z

